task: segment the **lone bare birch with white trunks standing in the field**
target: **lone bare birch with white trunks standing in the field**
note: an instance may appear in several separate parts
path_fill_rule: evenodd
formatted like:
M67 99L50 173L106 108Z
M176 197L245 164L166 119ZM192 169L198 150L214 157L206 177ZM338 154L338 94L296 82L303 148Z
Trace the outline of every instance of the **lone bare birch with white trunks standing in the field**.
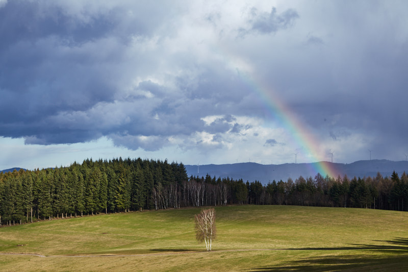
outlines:
M207 251L211 251L212 240L216 237L214 208L202 209L195 215L195 237L198 242L204 241Z

